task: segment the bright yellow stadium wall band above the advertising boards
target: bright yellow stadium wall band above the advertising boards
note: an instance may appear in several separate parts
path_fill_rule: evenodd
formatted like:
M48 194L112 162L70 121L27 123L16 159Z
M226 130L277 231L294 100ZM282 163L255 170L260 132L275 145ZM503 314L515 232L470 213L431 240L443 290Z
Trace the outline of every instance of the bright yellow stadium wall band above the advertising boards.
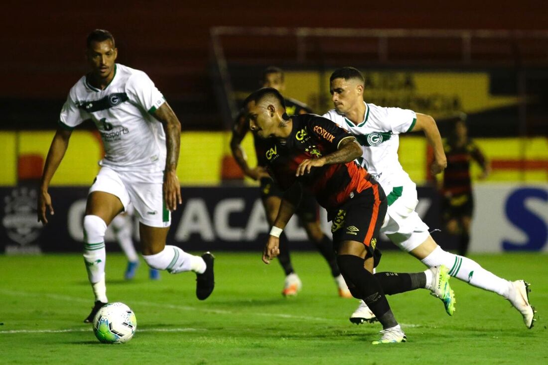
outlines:
M0 132L0 186L15 186L20 155L39 155L45 159L53 131ZM183 186L215 186L222 183L222 158L230 154L228 132L183 132L179 157L179 181ZM548 181L548 138L477 138L476 143L492 161L493 173L481 183ZM243 141L249 164L254 166L253 138ZM99 171L102 144L95 132L75 131L65 158L52 180L52 186L89 187ZM413 181L427 182L426 141L424 137L400 137L399 160ZM472 165L472 177L479 175ZM254 185L246 179L244 184Z

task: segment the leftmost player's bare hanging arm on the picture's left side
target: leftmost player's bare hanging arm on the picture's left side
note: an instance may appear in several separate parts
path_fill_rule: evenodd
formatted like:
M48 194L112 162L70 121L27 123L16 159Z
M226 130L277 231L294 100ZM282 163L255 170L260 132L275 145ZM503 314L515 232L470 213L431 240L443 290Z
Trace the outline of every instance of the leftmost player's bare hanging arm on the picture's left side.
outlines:
M48 224L46 211L49 211L50 215L54 214L52 198L48 193L49 182L52 181L55 171L57 171L61 160L65 156L71 134L71 130L58 128L52 144L49 146L48 157L45 159L44 171L40 179L40 191L37 201L38 222L42 222L43 225Z

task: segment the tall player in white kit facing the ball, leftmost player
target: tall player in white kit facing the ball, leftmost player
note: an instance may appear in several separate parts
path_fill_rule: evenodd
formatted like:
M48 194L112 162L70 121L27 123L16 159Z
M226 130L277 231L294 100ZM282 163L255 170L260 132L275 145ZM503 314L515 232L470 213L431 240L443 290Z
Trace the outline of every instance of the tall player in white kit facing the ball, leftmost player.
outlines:
M143 258L153 269L197 274L196 296L206 299L214 287L209 252L193 256L166 246L170 211L181 204L176 167L181 124L146 73L119 65L112 34L95 30L87 38L91 71L72 87L62 107L49 148L38 196L38 220L53 215L48 186L68 147L72 130L85 120L95 123L105 147L101 170L89 189L85 208L84 263L95 294L92 312L107 303L105 243L107 225L131 203L139 217Z

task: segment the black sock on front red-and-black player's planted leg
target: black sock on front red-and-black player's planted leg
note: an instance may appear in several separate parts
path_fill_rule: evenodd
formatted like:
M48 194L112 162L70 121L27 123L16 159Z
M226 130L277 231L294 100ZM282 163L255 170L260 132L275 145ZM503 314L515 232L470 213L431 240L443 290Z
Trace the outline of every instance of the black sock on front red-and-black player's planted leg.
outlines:
M337 262L349 289L352 287L352 295L359 294L357 298L366 302L383 328L397 326L398 322L392 314L379 281L363 267L364 259L353 255L339 255Z

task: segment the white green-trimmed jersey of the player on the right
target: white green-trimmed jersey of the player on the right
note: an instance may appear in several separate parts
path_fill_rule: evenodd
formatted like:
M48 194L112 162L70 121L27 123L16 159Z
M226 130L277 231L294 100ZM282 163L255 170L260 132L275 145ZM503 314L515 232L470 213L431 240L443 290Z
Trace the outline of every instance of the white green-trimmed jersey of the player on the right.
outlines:
M366 112L359 124L352 123L336 109L331 109L323 117L334 121L356 137L363 150L362 157L357 159L358 163L373 175L386 195L389 195L394 187L404 186L411 181L399 163L398 135L413 129L416 114L409 109L364 104Z

